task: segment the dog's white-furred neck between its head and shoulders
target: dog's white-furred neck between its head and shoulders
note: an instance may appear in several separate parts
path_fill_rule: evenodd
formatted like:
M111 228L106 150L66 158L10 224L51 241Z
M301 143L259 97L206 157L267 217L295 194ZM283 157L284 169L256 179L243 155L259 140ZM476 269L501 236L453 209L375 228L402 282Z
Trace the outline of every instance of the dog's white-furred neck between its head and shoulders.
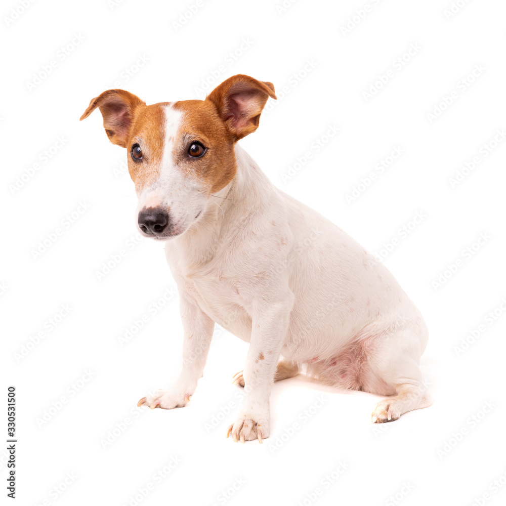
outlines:
M214 193L200 219L174 239L188 266L208 263L238 232L255 223L251 215L262 213L272 203L277 190L257 163L237 145L235 158L237 172L232 181Z

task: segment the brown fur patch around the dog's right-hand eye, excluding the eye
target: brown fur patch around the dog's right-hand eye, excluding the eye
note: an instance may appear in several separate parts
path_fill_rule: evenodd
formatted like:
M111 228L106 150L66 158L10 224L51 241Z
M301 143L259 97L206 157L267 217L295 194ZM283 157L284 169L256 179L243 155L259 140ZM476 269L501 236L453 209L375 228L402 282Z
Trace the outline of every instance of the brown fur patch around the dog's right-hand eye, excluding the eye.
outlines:
M227 186L235 176L234 139L216 106L209 100L175 102L174 109L183 113L182 123L174 142L174 162L185 174L202 182L211 195ZM188 155L189 146L198 141L207 149L200 158Z

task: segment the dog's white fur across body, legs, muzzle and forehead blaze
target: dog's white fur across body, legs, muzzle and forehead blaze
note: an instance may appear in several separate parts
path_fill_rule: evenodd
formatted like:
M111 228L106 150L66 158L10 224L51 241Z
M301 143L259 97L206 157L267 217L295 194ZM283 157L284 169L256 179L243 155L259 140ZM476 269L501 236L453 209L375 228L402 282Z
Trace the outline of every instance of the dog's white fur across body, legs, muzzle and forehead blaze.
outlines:
M181 296L184 367L174 387L145 404L171 408L189 400L217 322L250 343L238 376L245 396L229 429L235 440L268 437L272 384L299 370L393 395L376 406L372 421L430 405L418 368L427 328L391 273L343 230L275 188L237 145L236 176L204 199L170 159L180 120L167 108L164 166L139 209L155 195L184 231L165 247Z

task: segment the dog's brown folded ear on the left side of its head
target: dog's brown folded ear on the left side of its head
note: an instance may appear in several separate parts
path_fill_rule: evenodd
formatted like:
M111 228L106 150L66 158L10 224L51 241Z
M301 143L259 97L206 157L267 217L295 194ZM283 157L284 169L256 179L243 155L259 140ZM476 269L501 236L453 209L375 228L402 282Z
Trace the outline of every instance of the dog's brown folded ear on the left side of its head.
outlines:
M92 99L79 121L87 118L98 107L104 118L107 137L113 144L125 148L134 112L137 107L142 105L146 104L132 93L124 90L107 90Z

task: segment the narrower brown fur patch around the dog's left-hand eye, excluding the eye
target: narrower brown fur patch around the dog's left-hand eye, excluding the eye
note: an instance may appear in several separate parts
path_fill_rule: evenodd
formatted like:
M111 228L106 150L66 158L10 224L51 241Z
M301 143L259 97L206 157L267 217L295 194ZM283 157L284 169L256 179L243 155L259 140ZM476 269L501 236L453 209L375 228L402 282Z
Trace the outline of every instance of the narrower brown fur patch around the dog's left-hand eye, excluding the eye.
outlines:
M132 122L126 144L126 156L128 156L128 171L138 193L156 181L162 168L166 105L168 103L139 107ZM141 161L132 159L131 151L134 144L141 147Z

